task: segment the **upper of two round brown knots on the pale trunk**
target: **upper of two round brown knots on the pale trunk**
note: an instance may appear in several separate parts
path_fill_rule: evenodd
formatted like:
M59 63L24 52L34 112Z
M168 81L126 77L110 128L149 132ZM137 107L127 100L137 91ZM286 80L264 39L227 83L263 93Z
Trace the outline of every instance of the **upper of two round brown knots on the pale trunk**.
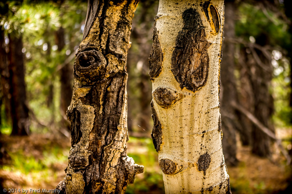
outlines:
M176 91L166 87L158 87L152 94L154 100L162 108L171 107L181 97Z

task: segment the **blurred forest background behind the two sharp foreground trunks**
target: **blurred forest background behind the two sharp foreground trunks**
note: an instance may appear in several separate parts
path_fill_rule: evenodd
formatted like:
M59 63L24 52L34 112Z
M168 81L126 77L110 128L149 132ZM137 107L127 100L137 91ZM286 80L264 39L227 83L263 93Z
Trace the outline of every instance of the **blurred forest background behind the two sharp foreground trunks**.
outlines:
M286 193L291 187L290 4L225 0L220 103L232 193ZM86 9L86 2L73 0L0 2L3 188L54 189L65 176L71 138L66 110ZM158 0L141 0L132 25L128 155L145 172L127 193L164 193L150 136L148 58L157 9Z

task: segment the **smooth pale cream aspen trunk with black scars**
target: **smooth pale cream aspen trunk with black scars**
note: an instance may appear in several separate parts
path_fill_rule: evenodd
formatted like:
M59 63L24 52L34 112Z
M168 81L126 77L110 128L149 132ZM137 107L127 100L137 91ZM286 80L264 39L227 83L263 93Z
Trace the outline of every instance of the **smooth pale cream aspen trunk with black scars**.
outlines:
M230 193L219 108L224 5L160 0L150 79L166 193Z

